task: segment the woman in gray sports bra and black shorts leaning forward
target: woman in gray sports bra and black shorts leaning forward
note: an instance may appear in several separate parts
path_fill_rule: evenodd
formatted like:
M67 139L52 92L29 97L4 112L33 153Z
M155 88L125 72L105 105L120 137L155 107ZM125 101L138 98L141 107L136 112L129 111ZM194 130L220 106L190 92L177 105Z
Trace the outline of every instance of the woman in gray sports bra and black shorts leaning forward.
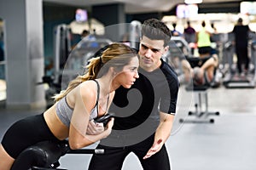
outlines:
M22 150L40 141L68 138L70 148L75 150L111 133L113 119L103 127L103 132L99 130L102 133L90 132L90 120L108 113L115 89L131 88L138 78L139 61L137 52L122 43L110 44L98 54L90 60L84 75L55 95L55 105L9 127L0 145L1 170L9 170Z

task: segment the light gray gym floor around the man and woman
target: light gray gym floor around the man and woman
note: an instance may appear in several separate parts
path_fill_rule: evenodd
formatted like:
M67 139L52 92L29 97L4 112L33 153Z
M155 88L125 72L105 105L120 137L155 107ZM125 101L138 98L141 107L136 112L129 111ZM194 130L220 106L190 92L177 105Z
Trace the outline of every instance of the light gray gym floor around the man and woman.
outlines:
M219 116L201 116L200 121L214 119L214 123L186 122L195 111L197 94L180 88L177 116L172 136L167 140L172 170L252 170L256 167L256 89L227 89L224 86L207 90L209 111L219 111ZM203 108L205 109L205 108ZM0 105L0 139L16 120L42 111L7 110ZM180 119L185 122L179 122ZM94 148L92 144L89 148ZM61 157L61 168L87 169L90 155ZM140 170L137 157L129 155L123 170Z

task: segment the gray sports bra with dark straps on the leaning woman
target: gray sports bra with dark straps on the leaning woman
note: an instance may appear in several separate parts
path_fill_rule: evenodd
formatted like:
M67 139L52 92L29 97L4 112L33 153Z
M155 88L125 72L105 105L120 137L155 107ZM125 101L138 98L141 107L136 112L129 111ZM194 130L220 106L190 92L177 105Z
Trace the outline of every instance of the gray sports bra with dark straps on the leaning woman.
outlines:
M100 97L100 85L99 82L96 80L93 80L97 84L97 99L96 99L96 105L90 112L90 120L96 118L98 116L98 99ZM109 98L109 96L108 96ZM107 108L108 108L108 103L107 103ZM70 120L73 115L73 108L71 108L67 104L67 98L66 96L62 98L58 103L56 104L55 108L57 116L60 118L61 122L63 122L67 127L70 126Z

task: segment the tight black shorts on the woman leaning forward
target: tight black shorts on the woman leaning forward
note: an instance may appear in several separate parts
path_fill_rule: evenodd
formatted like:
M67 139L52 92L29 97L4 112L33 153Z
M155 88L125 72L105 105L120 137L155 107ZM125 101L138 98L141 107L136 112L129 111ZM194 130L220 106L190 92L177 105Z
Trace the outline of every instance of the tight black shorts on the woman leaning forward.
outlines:
M50 140L59 142L47 126L44 115L27 116L15 122L3 136L2 145L9 156L16 159L22 150L32 144Z

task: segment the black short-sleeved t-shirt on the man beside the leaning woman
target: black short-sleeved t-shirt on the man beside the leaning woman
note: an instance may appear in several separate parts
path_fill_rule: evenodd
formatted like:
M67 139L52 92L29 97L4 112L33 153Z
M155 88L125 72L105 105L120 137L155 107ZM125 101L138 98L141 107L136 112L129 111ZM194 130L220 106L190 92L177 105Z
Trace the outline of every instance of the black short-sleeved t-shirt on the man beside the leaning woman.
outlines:
M177 74L161 61L160 68L152 72L139 68L139 78L131 88L116 90L109 110L116 115L113 129L131 129L146 120L155 128L159 124L159 111L175 114L179 87Z

